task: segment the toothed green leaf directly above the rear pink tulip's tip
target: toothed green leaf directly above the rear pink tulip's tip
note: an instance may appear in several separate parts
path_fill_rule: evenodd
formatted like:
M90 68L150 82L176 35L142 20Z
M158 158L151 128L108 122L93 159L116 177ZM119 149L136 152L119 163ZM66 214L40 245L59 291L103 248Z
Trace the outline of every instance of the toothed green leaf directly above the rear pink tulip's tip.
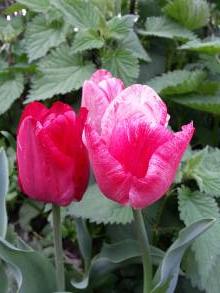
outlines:
M107 50L102 56L102 67L121 78L126 85L134 82L139 73L138 60L129 50Z

